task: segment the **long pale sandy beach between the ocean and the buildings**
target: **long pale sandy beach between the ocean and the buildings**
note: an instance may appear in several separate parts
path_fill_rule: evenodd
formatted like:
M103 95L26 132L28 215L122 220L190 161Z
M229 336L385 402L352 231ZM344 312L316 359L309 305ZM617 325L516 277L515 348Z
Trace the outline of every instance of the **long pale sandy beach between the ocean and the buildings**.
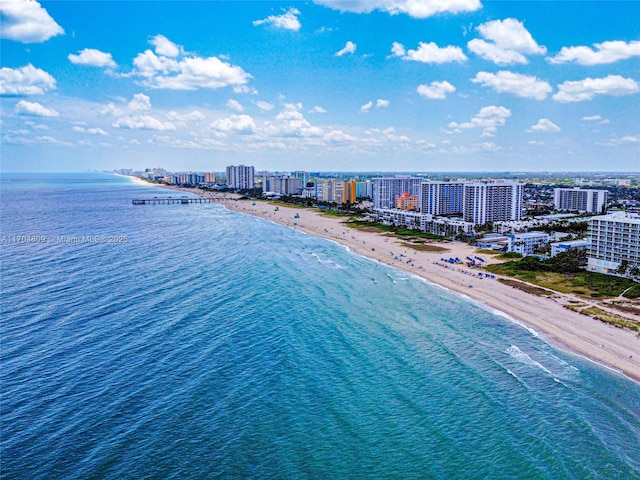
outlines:
M630 330L614 327L564 308L565 304L573 300L574 297L571 295L556 292L547 297L527 293L505 285L497 278L481 278L475 273L472 275L471 269L445 265L440 261L441 257L465 258L477 255L476 248L465 243L427 243L443 250L418 251L395 236L380 231L354 229L343 224L340 217L322 215L319 211L309 208L278 205L276 210L274 205L264 200L256 200L253 205L253 200L238 200L230 194L221 195L195 188L157 185L144 180L136 183L215 198L229 210L260 217L336 242L356 255L398 268L430 285L466 297L477 306L529 330L532 335L539 336L555 348L580 356L640 383L640 336ZM486 256L485 259L486 263L498 262Z

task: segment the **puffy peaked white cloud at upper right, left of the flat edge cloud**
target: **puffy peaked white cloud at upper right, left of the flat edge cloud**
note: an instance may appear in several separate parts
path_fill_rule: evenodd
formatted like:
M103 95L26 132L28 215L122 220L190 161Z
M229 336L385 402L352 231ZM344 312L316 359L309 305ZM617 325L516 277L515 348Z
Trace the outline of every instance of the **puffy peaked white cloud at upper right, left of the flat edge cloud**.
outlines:
M484 38L467 43L467 47L476 55L497 65L528 63L525 55L543 55L547 49L533 39L524 25L515 18L493 20L477 28Z

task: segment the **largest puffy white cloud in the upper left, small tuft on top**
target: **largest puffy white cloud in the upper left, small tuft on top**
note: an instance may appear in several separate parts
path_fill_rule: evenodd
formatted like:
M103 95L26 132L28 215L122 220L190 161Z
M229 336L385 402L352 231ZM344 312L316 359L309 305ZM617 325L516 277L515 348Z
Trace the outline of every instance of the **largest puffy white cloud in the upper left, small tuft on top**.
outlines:
M151 42L156 41L157 38L158 36L154 37ZM157 41L156 44L158 44ZM160 49L156 46L156 52L170 50L166 42L160 45ZM182 52L182 47L176 46L176 48ZM186 56L180 52L177 57L170 57L145 50L133 60L135 69L132 75L142 77L141 83L146 87L169 90L217 89L226 86L242 89L251 78L251 75L241 67L231 65L217 57ZM169 51L169 53L175 52Z

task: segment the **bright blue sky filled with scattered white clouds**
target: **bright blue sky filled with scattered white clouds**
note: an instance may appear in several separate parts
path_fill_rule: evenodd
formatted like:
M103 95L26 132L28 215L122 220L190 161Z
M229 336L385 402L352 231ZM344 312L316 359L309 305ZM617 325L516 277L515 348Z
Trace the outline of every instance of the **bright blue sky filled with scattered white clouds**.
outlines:
M640 171L640 2L0 0L2 172Z

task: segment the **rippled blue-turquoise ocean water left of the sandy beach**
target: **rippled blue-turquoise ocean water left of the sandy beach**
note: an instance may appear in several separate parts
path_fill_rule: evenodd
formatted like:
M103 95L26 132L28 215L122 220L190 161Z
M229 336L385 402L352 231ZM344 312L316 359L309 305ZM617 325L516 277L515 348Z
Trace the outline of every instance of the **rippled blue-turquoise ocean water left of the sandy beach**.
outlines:
M124 177L0 186L3 479L640 478L640 386L504 315Z

